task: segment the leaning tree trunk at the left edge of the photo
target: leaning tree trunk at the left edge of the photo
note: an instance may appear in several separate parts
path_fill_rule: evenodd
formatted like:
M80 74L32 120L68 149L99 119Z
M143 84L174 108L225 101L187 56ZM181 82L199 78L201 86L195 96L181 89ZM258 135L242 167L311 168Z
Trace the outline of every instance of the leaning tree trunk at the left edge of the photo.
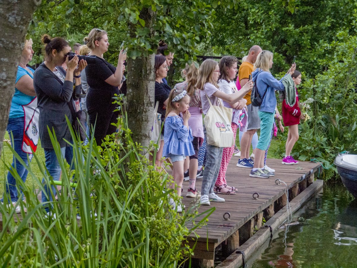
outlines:
M11 99L15 92L17 66L30 20L41 0L1 0L0 4L0 157Z

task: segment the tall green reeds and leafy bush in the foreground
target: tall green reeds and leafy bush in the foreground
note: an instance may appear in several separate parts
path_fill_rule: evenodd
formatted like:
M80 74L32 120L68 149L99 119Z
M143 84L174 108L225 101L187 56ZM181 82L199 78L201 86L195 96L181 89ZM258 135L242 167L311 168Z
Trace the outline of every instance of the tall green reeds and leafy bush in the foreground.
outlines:
M94 139L82 145L70 126L74 170L62 159L51 134L62 188L58 200L45 205L56 218L48 217L34 188L11 171L26 198L18 204L27 213L22 211L20 219L14 209L0 204L2 267L177 267L191 256L185 237L195 235L214 208L197 222L202 218L198 203L182 214L172 210L168 195L179 198L166 188L171 178L149 163L144 148L132 141L125 119L118 124L119 133L107 137L101 147ZM44 190L33 165L46 184L53 183L36 153L28 176Z

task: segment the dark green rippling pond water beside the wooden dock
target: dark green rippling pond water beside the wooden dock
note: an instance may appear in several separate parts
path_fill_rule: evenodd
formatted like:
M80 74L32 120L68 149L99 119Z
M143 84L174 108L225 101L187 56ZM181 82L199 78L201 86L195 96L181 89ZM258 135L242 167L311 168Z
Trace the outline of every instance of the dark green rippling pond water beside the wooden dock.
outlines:
M325 185L292 222L247 262L248 267L357 267L357 200L341 183Z

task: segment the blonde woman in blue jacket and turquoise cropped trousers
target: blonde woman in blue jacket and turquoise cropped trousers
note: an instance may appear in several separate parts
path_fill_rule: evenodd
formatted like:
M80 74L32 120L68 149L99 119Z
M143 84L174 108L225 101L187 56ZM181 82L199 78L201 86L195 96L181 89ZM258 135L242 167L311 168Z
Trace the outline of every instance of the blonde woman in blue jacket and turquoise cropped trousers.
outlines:
M263 50L257 57L254 64L255 71L252 73L252 80L257 84L257 89L260 96L266 94L263 98L263 103L260 105L258 115L260 118L260 137L255 149L254 167L250 172L250 177L269 178L270 175L267 169L264 169L264 154L268 148L270 141L271 130L275 115L276 98L275 90L285 90L282 79L276 80L270 73L269 69L273 65L273 53L268 50ZM286 75L292 75L295 71L295 63Z

